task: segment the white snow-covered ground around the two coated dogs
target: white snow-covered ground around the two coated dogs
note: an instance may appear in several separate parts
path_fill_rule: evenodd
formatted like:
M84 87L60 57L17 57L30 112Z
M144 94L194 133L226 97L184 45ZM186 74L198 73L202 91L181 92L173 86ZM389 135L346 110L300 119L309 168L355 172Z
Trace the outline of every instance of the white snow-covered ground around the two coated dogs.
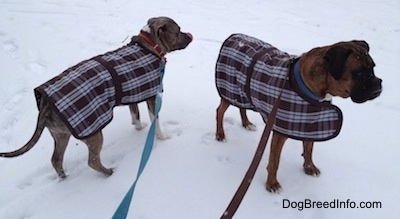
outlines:
M227 111L227 142L214 140L219 103L214 65L223 40L241 32L292 54L342 40L364 39L383 79L378 99L357 105L334 98L344 113L341 134L317 143L319 177L302 172L301 143L288 141L278 173L283 190L264 189L268 151L235 218L397 218L400 215L400 2L326 1L62 1L0 0L0 151L33 133L33 88L69 66L118 48L147 19L170 16L194 41L168 54L162 128L138 183L129 218L219 218L253 157L263 129L240 125ZM141 104L146 115L145 104ZM147 130L136 131L127 107L104 129L102 159L111 177L87 166L87 148L71 139L66 180L50 164L48 132L29 153L0 159L0 218L110 218L136 176ZM147 116L143 116L148 122ZM284 208L284 200L380 202L381 208Z

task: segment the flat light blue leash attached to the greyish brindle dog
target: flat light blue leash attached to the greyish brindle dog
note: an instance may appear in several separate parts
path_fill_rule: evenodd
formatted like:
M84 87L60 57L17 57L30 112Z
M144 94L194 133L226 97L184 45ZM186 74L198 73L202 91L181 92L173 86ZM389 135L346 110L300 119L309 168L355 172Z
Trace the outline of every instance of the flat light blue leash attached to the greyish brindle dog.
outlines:
M146 143L145 143L144 148L143 148L143 152L142 152L142 157L141 157L140 164L139 164L138 173L136 175L136 179L133 182L131 188L128 190L128 192L126 193L124 199L122 200L122 202L119 204L117 210L115 211L115 213L114 213L114 215L112 217L113 219L125 219L127 217L128 211L129 211L129 206L130 206L131 201L132 201L132 196L133 196L133 193L135 191L136 183L139 180L139 177L142 174L144 168L146 167L147 161L150 158L151 151L153 150L156 119L157 119L157 116L158 116L158 112L160 112L161 103L162 103L161 93L162 93L162 90L163 90L162 79L164 77L164 72L165 72L165 62L163 62L161 64L161 69L160 69L161 82L160 82L160 88L158 89L157 96L156 96L154 119L153 119L153 121L151 123L149 133L147 134Z

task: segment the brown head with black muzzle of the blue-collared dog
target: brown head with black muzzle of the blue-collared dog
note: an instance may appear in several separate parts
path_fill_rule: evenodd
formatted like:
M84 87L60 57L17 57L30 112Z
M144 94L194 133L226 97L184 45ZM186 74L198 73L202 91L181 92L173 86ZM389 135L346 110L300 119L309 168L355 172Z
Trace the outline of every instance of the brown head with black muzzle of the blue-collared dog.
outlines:
M375 76L368 52L367 42L353 40L329 46L324 55L327 71L344 89L343 97L355 103L375 99L382 92L382 79Z

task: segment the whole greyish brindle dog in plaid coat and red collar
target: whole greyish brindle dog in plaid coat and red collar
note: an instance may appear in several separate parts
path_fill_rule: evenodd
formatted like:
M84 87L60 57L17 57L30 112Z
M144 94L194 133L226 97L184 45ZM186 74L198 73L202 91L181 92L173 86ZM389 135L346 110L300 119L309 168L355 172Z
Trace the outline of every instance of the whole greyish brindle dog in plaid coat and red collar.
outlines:
M0 157L29 151L47 127L55 146L51 162L61 178L66 177L62 164L71 134L88 146L89 166L111 175L113 170L101 163L100 151L101 130L111 122L113 108L131 104L132 121L141 129L137 103L147 101L154 117L164 55L186 48L191 41L192 35L182 33L171 18L151 18L128 45L83 61L37 87L39 115L32 138L16 151L0 153ZM157 136L163 138L159 127Z

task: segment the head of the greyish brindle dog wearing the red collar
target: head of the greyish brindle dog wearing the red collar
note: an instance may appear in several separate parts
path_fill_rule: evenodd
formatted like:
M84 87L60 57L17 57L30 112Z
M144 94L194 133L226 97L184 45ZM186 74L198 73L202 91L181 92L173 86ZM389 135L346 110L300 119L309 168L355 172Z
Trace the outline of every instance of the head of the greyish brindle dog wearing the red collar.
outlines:
M142 31L149 33L166 53L184 49L193 40L190 33L181 32L179 25L169 17L150 18Z

